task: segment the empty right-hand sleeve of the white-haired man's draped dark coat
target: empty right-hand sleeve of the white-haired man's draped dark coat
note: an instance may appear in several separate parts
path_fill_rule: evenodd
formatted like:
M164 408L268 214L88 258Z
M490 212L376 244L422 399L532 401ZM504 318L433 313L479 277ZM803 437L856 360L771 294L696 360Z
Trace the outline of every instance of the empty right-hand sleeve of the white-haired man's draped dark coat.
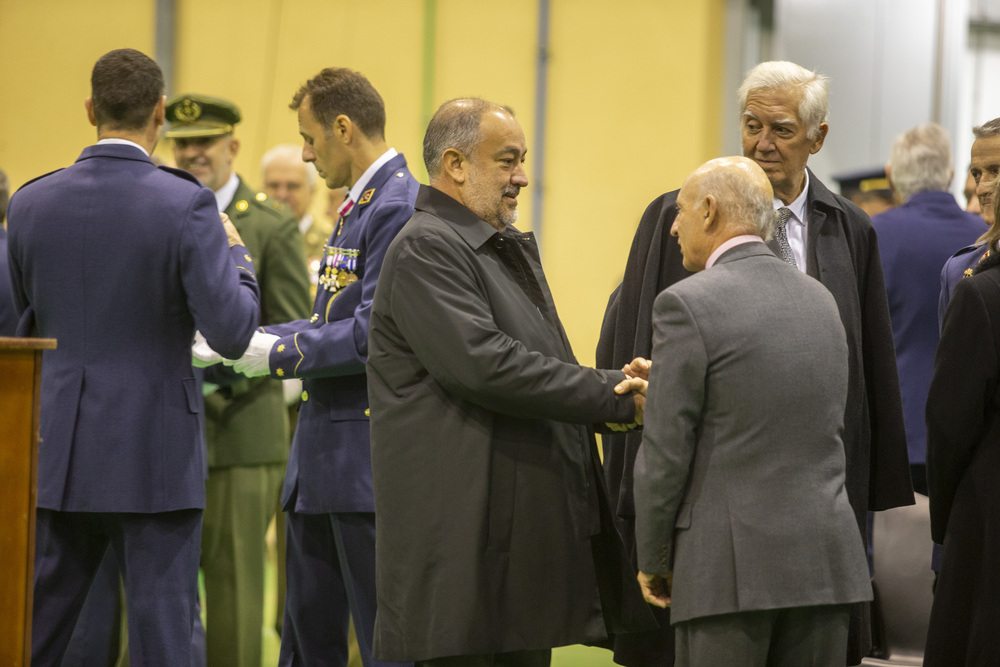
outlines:
M871 428L868 509L884 510L912 505L913 487L889 300L878 240L870 225L866 240L868 262L862 283L861 346Z

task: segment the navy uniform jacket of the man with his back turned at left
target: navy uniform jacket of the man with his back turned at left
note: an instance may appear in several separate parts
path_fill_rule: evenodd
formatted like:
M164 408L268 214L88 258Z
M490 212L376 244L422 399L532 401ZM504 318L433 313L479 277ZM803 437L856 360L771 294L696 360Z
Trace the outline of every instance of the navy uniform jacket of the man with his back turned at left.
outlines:
M137 148L97 145L10 202L11 277L45 352L38 506L203 508L195 328L238 358L260 315L250 255L212 192ZM20 333L28 333L22 322Z

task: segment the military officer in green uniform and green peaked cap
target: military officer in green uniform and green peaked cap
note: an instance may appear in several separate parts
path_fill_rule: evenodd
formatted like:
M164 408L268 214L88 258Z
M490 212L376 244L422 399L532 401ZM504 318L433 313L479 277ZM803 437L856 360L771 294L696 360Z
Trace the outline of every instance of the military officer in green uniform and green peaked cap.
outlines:
M309 278L298 221L233 170L240 111L227 100L181 95L167 105L177 166L215 192L257 267L261 324L308 317ZM202 533L206 653L212 667L261 664L264 534L288 457L280 380L205 371L207 497ZM214 386L213 386L214 385Z

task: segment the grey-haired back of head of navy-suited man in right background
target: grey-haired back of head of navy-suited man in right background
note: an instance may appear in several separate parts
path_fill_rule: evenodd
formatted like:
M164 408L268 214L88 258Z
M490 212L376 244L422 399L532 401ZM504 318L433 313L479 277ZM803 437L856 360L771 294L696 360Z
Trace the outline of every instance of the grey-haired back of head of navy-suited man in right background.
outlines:
M918 192L947 190L952 176L948 131L937 123L924 123L896 137L889 175L904 201Z

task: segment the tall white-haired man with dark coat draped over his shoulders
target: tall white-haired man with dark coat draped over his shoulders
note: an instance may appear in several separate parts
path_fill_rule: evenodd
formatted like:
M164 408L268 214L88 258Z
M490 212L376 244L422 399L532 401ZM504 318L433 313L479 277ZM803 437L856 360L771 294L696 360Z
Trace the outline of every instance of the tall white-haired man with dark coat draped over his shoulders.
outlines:
M913 503L906 457L892 328L875 231L868 216L832 193L809 172L809 156L823 147L827 125L826 77L790 62L766 62L747 74L739 89L743 155L767 175L780 222L771 247L779 257L816 278L833 294L847 334L848 393L844 412L847 492L865 534L866 512ZM600 368L617 368L652 349L653 300L690 273L682 266L669 230L677 192L646 208L629 254L622 284L612 294L597 348ZM782 210L783 209L783 210ZM626 542L634 543L632 495L641 437L604 438L605 474L617 495ZM616 660L627 665L663 664L673 653L669 611L658 636L619 638ZM851 616L848 664L870 646L867 605Z

